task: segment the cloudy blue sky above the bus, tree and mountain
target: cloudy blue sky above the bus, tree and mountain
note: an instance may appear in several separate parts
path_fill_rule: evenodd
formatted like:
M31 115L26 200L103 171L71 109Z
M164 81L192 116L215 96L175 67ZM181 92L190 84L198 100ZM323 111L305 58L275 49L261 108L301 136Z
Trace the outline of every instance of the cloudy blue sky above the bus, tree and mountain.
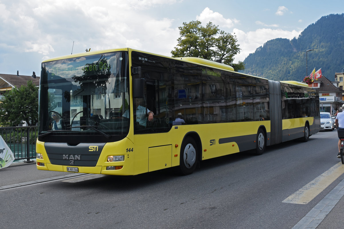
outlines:
M0 0L0 73L40 75L42 60L130 47L171 56L183 22L235 33L243 61L273 38L297 37L338 0ZM74 46L73 46L74 42Z

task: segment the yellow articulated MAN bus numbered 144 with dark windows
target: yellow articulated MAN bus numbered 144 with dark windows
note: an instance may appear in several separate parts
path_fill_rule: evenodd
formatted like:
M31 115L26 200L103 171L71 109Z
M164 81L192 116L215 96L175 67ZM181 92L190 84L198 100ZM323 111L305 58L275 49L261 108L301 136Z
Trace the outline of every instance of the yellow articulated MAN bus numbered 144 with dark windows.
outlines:
M292 139L320 129L319 94L200 58L130 48L42 62L37 169L135 175Z

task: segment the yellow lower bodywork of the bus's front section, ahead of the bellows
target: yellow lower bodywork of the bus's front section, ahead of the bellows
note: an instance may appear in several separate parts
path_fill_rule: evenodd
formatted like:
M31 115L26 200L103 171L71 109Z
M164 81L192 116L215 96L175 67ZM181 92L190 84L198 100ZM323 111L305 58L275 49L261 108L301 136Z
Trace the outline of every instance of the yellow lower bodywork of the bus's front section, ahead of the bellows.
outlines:
M269 133L270 121L178 125L172 126L167 133L132 135L132 139L126 137L117 142L106 143L95 167L53 165L45 151L44 142L37 140L36 152L43 155L43 159L37 158L37 162L45 163L45 166L37 165L37 169L67 172L67 167L75 167L79 169L79 173L136 175L178 166L182 142L187 133L194 132L200 137L202 145L202 149L199 149L200 160L206 160L242 151L239 149L238 142L219 144L219 139L256 136L260 127L264 127ZM214 140L213 144L211 144L212 140ZM254 141L255 138L252 139L252 144L255 144ZM108 156L112 155L124 155L124 161L108 162ZM108 166L123 167L118 170L107 170Z

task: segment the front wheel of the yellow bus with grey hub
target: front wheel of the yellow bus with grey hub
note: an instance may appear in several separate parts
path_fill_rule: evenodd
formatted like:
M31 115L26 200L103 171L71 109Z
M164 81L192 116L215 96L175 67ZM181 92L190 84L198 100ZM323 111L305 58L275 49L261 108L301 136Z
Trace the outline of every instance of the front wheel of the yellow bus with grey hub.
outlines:
M179 171L182 175L191 174L197 165L197 144L192 137L186 137L183 140L180 149Z

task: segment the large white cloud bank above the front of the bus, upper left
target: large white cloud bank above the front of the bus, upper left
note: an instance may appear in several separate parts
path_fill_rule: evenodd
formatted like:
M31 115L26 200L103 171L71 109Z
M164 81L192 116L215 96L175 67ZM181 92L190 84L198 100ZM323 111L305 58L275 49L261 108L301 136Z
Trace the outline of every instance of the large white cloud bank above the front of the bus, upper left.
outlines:
M173 19L155 19L145 10L179 0L32 0L0 4L0 44L54 57L91 50L132 47L170 55L179 37ZM133 7L135 10L132 10ZM131 10L128 10L131 9ZM50 36L47 36L50 34Z

